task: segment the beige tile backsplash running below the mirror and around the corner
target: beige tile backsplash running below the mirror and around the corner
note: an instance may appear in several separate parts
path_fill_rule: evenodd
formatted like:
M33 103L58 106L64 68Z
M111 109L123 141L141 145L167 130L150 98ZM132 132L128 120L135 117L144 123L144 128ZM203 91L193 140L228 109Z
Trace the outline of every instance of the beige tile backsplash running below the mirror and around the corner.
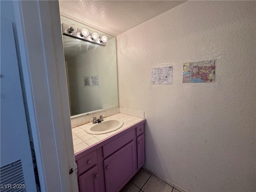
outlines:
M104 117L112 116L118 113L136 116L139 118L144 118L144 111L134 110L134 109L128 109L123 107L116 107L108 110L104 110L101 112L95 112L92 114L76 117L71 119L71 128L90 123L92 122L92 118L96 117L98 118L100 115L103 115Z

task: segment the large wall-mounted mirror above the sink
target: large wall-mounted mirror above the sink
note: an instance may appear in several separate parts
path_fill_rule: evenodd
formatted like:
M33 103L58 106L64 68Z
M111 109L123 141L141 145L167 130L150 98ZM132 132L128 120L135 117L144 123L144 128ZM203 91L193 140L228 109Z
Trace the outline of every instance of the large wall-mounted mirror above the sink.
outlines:
M116 38L63 16L60 20L108 38L101 46L62 35L71 118L117 107Z

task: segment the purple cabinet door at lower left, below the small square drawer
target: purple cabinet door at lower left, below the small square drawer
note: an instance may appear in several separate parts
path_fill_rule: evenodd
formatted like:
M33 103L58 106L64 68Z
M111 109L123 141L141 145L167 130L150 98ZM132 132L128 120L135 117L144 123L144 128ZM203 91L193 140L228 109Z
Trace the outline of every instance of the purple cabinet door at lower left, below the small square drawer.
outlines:
M80 192L100 192L98 166L94 166L79 176Z

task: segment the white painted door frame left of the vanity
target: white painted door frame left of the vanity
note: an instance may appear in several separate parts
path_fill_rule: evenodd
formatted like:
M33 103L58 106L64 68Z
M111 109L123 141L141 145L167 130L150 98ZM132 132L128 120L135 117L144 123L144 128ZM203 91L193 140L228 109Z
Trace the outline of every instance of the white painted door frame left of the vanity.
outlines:
M41 191L78 191L58 1L13 1Z

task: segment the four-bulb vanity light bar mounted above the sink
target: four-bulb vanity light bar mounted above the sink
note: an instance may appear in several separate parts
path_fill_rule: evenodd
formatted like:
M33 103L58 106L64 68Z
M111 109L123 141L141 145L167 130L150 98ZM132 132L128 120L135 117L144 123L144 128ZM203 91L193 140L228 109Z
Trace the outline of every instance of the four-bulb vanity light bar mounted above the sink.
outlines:
M62 23L62 34L65 36L76 38L77 40L84 40L88 43L94 43L96 45L106 46L108 40L107 36L99 36L98 33L90 33L87 29L78 29L74 24Z

